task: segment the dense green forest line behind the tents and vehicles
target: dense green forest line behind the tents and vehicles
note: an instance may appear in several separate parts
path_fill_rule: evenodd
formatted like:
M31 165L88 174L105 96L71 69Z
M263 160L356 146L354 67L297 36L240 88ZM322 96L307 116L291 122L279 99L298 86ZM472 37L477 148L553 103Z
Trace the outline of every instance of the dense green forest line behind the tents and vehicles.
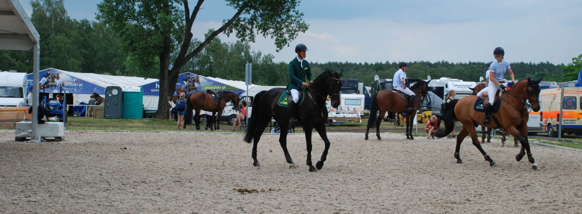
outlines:
M155 58L148 61L150 63L146 67L151 69L137 69L144 66L138 66L139 60L136 59L138 56L133 56L130 51L125 50L124 47L130 44L123 44L119 34L107 24L87 19L71 19L67 15L62 0L34 0L31 1L31 5L33 7L31 20L41 35L41 69L54 67L70 72L158 78L159 60ZM197 47L198 44L200 41L194 39L190 47ZM177 54L172 55L175 57ZM292 57L292 55L289 56L290 59ZM582 58L582 55L579 58ZM253 51L249 43L222 42L219 38L214 38L203 52L184 66L182 72L244 81L244 64L249 62L253 63L254 84L288 84L288 62L274 62L273 59L274 56L271 54ZM577 61L574 60L574 62ZM412 79L426 79L430 75L432 79L452 77L465 81L478 81L487 69L486 62L408 63L410 67L407 75ZM398 70L398 62L311 62L310 65L314 77L325 69L338 72L344 69L343 78L359 79L365 85L370 85L375 75L381 79L391 79ZM577 63L575 67L553 65L549 62L511 63L516 79L544 76L544 80L548 81L575 80L578 66L580 63ZM32 52L0 51L0 69L30 73ZM568 74L565 75L566 73ZM509 79L509 75L506 78Z

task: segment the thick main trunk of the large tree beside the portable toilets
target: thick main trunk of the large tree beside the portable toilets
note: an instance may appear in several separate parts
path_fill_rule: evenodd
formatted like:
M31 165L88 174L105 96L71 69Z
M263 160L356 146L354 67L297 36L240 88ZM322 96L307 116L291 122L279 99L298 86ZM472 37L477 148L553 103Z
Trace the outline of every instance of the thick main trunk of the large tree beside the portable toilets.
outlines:
M176 82L178 81L178 70L170 67L170 37L164 40L164 48L159 54L159 98L158 98L158 112L155 113L155 118L168 119L169 105L168 101L172 101L172 95L176 91Z

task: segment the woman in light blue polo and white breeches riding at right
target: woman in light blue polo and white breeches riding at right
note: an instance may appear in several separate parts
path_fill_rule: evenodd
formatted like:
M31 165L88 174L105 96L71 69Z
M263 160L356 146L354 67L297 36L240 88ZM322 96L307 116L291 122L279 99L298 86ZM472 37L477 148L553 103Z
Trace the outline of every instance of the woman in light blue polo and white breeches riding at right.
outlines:
M487 103L489 105L483 102L483 106L485 106L485 119L483 119L483 124L489 124L489 115L491 115L493 109L492 106L495 102L495 94L497 90L501 88L505 91L505 85L501 84L503 77L505 77L505 72L509 72L512 83L515 82L515 76L513 75L511 66L509 66L509 62L503 60L503 56L505 56L503 48L495 48L493 56L495 57L495 61L491 63L491 66L489 66L489 77L485 80L489 81L489 84L477 93L477 96L481 96L483 93L487 92L487 95L489 96L489 102Z

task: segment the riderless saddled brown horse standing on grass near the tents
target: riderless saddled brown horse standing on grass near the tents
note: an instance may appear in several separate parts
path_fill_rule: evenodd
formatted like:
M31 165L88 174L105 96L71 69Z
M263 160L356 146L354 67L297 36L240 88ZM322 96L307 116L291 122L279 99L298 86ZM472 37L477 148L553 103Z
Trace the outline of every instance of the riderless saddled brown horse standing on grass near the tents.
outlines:
M223 98L222 101L218 102L214 98L212 98L211 94L202 91L194 91L186 98L186 115L184 115L184 119L186 123L184 124L191 124L192 120L192 110L196 110L194 114L194 122L196 123L196 130L200 130L200 110L205 110L208 112L212 112L211 119L206 121L206 130L210 128L212 129L212 123L214 123L215 114L218 113L217 124L214 127L216 130L220 130L220 117L222 116L222 110L226 107L227 102L232 102L235 104L235 109L239 108L239 95L235 92L230 91L222 91ZM184 125L185 126L185 125Z

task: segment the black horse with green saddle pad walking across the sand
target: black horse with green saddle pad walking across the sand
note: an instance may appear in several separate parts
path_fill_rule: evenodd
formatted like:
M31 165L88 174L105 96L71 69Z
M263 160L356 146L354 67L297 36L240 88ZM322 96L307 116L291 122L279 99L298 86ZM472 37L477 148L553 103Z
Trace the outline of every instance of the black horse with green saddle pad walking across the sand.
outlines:
M303 126L305 131L305 138L307 141L307 165L309 166L309 172L316 172L324 166L324 162L327 159L328 149L330 142L327 138L327 133L325 131L325 121L328 119L328 111L325 106L325 101L329 95L331 97L332 108L338 108L340 104L339 90L342 87L342 77L343 70L339 73L327 70L320 76L315 78L313 84L310 88L306 89L301 94L305 94L305 98L302 104L297 105L296 113L299 117L299 122ZM246 134L244 135L245 142L253 141L253 152L251 157L253 157L253 165L260 166L257 159L257 144L261 139L261 135L268 123L271 122L271 118L274 118L276 122L281 127L281 130L289 130L289 108L281 107L278 105L279 97L285 93L285 88L272 88L269 91L261 91L255 95L253 100L253 110L251 112L251 117L249 117L249 126L247 126ZM315 164L311 163L311 133L313 128L320 134L322 140L325 143L325 149L321 155L320 161ZM283 153L285 154L285 159L289 163L289 168L295 168L297 165L293 163L291 155L287 150L287 131L281 131L279 134L279 144L283 148ZM316 169L317 167L317 169Z

